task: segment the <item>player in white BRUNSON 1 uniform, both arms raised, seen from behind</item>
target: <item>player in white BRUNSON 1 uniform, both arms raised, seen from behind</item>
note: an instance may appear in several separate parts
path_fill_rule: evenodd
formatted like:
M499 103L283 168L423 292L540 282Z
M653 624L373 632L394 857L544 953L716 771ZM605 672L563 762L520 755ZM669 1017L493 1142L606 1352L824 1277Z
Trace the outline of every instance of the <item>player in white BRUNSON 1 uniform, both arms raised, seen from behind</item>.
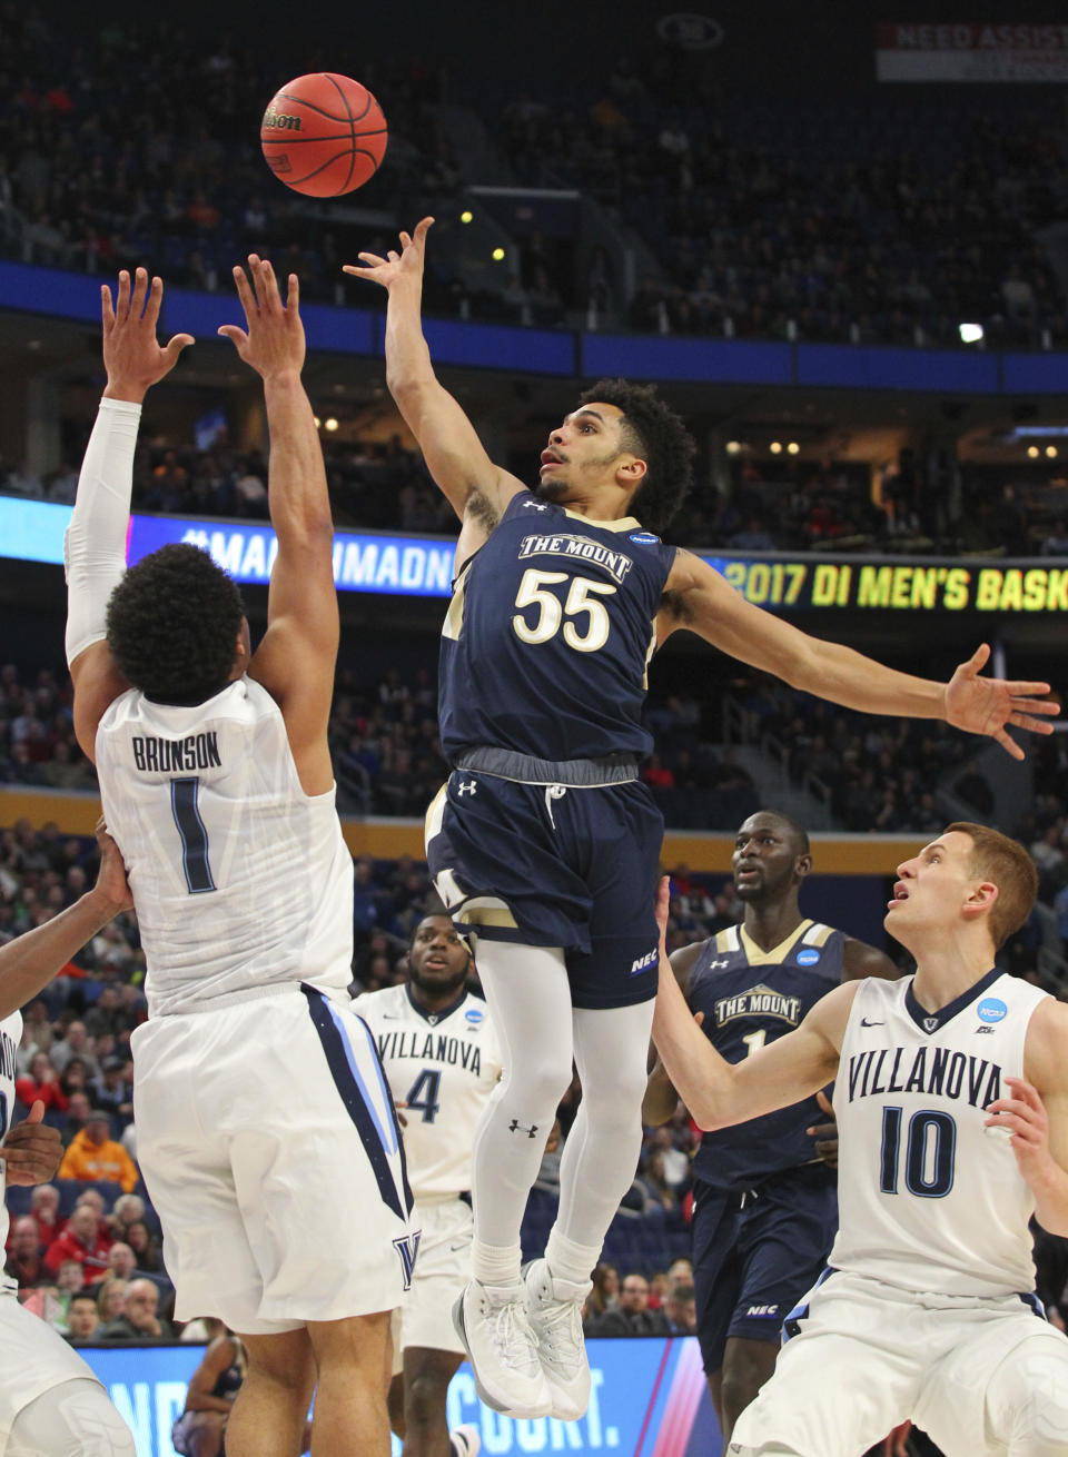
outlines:
M417 1236L389 1090L353 1013L353 861L326 723L338 648L329 498L300 372L297 281L235 270L264 382L278 538L251 651L235 583L165 546L125 568L141 399L188 335L156 342L162 284L103 288L108 386L67 532L74 730L130 873L149 1021L134 1032L137 1152L181 1320L237 1333L230 1457L389 1450L389 1311ZM338 1211L358 1209L358 1221ZM207 1237L205 1237L207 1234Z

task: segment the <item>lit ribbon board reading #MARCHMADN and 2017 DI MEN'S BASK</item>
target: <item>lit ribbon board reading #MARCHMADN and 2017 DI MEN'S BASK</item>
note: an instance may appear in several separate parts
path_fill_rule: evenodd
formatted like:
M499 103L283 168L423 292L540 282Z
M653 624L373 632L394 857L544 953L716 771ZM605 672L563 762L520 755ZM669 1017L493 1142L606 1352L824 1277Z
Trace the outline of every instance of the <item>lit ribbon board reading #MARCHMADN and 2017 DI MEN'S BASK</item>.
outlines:
M63 562L68 506L0 497L0 557ZM267 522L133 516L130 565L168 542L210 552L235 581L267 586L278 542ZM455 543L441 536L347 532L334 535L338 592L449 597ZM831 554L701 552L747 602L772 612L981 613L1037 616L1068 612L1068 559L854 557Z

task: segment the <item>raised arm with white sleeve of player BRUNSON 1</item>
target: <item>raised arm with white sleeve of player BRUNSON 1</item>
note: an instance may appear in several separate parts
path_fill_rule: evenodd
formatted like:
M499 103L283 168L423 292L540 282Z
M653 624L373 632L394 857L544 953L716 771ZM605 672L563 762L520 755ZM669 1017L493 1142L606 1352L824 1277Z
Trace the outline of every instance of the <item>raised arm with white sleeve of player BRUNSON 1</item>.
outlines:
M82 463L77 497L64 539L67 570L67 663L74 683L74 733L83 752L96 756L96 726L114 698L130 685L106 641L108 599L127 565L130 492L141 401L169 374L191 334L156 341L163 283L138 268L124 270L112 305L101 288L103 366L108 385Z

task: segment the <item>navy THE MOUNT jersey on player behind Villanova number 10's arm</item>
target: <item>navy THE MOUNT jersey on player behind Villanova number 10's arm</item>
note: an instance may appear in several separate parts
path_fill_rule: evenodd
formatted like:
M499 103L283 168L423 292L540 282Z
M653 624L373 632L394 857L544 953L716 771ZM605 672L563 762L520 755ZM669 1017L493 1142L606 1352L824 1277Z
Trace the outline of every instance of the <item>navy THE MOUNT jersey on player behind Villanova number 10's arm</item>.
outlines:
M797 1027L842 979L847 937L801 921L785 941L762 951L745 927L710 937L689 978L689 1005L702 1011L702 1032L727 1062L740 1062ZM718 1128L701 1138L694 1173L721 1189L752 1189L769 1174L816 1157L806 1128L825 1123L814 1097Z

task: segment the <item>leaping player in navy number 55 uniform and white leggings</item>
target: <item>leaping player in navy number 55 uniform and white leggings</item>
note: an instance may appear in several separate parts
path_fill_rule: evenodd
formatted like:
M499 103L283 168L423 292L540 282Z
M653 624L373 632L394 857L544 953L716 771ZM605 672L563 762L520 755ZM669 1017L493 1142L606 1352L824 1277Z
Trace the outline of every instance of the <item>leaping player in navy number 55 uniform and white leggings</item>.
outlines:
M427 860L478 937L507 1069L474 1150L474 1281L458 1310L479 1391L520 1416L578 1416L590 1374L580 1307L641 1147L656 992L653 890L663 822L638 779L656 645L691 628L755 667L868 712L947 718L1020 758L1007 726L1049 730L1045 683L895 673L750 606L699 557L664 545L694 443L656 393L587 390L548 439L536 491L494 465L437 382L420 323L430 227L347 271L389 291L386 380L460 519L441 641L441 747ZM557 1103L583 1103L561 1163L545 1260L520 1275L519 1230Z

